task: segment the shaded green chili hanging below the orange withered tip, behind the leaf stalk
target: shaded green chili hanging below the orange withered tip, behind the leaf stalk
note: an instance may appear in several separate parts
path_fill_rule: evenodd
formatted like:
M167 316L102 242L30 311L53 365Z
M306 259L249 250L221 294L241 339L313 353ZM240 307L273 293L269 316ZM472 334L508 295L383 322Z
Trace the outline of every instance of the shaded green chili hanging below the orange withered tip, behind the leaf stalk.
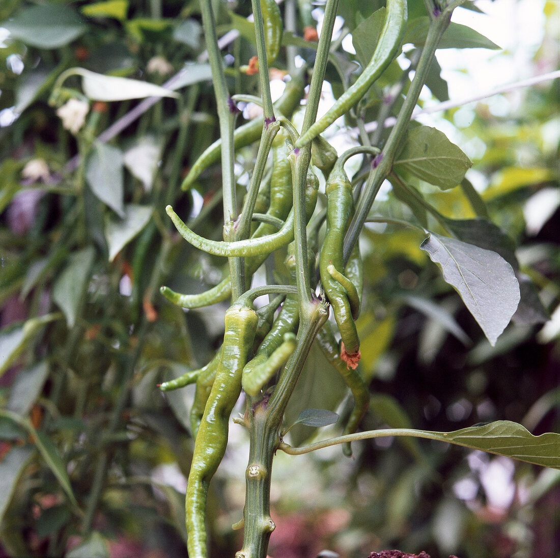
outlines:
M354 408L344 428L344 434L353 434L358 429L358 425L360 425L360 421L370 404L370 392L367 389L367 385L363 382L362 376L356 370L348 368L346 362L340 357L338 343L334 338L329 322L323 325L323 328L317 334L316 340L326 359L338 370L354 396ZM348 457L352 455L349 442L343 444L342 450L344 455L348 455Z

